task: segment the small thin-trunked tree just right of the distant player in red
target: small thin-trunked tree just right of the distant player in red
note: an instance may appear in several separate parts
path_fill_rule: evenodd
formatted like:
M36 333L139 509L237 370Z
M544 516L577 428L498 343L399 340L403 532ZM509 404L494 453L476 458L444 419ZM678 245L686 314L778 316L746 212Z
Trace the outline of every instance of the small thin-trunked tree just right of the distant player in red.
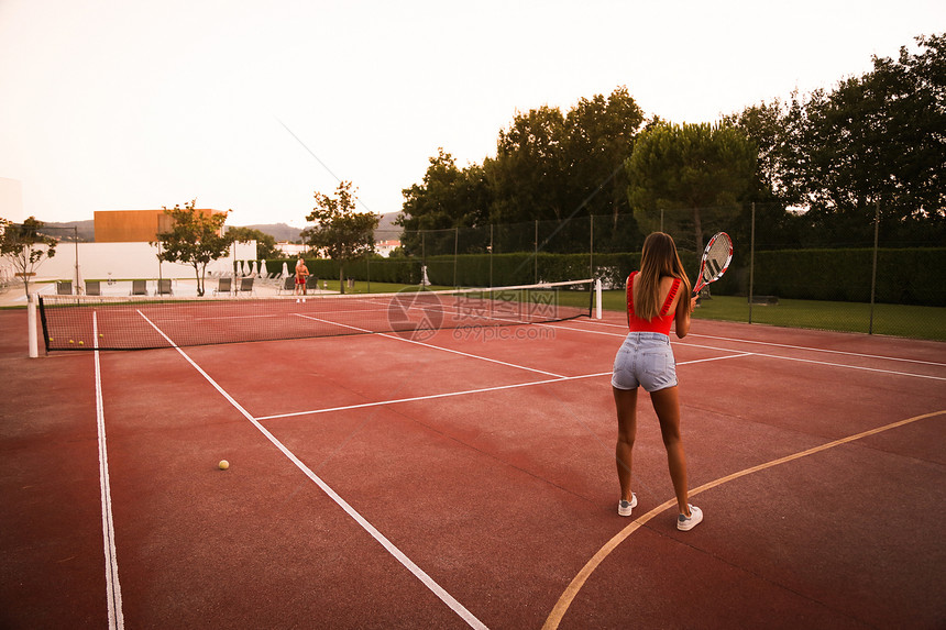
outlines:
M306 217L315 223L302 231L306 243L339 262L339 286L345 292L344 264L374 252L374 229L380 217L355 212L356 197L351 181L341 181L334 197L316 191L316 207Z

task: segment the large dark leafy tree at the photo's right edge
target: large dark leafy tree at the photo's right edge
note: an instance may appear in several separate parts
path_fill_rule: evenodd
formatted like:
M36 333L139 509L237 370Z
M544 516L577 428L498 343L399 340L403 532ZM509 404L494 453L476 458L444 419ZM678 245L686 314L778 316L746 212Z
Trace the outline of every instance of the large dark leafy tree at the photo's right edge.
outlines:
M789 222L806 242L870 242L878 206L882 241L946 240L946 35L916 43L829 91L730 117L759 146L762 188L805 211Z

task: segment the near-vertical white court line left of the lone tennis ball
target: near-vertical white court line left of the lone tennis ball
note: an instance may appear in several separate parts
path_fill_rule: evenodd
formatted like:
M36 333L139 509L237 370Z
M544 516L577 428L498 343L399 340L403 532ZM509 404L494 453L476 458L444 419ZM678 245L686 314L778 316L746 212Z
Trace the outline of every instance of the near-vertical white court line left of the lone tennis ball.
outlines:
M109 456L106 445L106 413L102 400L102 369L99 360L99 320L92 312L92 338L95 339L96 363L96 424L99 442L99 487L102 500L102 540L106 554L106 596L108 599L109 629L124 628L124 614L121 607L121 585L118 578L118 557L116 555L116 528L112 520L112 496L109 483Z

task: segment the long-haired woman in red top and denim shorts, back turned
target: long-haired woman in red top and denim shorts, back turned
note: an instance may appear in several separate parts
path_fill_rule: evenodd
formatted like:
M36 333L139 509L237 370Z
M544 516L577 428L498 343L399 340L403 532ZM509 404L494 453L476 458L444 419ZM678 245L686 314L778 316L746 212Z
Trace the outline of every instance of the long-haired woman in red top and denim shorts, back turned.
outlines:
M703 520L700 508L688 502L686 456L680 440L680 399L676 390L676 363L670 349L670 327L676 336L690 332L690 313L696 298L691 297L690 279L680 263L676 245L662 232L644 242L640 272L627 278L627 321L630 332L614 360L612 388L617 407L617 478L620 502L617 511L629 517L637 505L630 488L631 455L637 434L637 389L650 393L667 449L670 478L676 494L676 529L688 531Z

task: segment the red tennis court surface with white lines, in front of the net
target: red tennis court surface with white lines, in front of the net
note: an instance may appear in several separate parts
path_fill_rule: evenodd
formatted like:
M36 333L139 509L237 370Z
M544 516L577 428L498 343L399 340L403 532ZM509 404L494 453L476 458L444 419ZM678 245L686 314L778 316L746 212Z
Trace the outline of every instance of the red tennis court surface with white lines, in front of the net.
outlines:
M34 360L25 320L2 628L946 626L942 343L694 321L679 532L644 394L617 516L619 313Z

